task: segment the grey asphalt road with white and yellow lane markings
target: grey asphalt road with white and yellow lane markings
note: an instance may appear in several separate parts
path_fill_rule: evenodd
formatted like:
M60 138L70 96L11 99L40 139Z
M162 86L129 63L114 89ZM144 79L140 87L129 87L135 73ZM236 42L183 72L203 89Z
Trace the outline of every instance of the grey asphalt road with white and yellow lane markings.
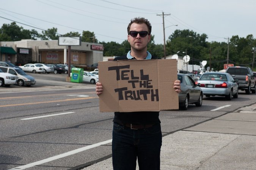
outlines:
M0 170L75 170L111 157L113 113L99 112L95 85L31 74L34 87L0 87ZM163 136L255 103L239 91L203 98L187 111L161 111ZM102 142L102 143L101 143Z

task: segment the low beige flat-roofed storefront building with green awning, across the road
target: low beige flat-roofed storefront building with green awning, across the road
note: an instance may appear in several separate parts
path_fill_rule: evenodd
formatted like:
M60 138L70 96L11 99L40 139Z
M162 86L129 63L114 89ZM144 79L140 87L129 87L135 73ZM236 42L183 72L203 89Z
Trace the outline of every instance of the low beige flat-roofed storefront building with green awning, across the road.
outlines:
M68 46L58 45L58 40L30 40L0 42L0 61L11 61L15 65L30 62L65 64L68 61ZM71 64L90 66L103 61L103 45L82 42L71 46Z

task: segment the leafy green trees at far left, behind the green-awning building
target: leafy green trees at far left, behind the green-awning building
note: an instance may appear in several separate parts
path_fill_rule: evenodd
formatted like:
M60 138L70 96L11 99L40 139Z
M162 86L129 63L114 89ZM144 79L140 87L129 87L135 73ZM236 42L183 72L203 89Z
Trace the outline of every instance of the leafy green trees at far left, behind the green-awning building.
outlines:
M35 30L25 30L23 27L11 24L3 24L0 28L0 41L20 41L22 39L36 39L38 32Z

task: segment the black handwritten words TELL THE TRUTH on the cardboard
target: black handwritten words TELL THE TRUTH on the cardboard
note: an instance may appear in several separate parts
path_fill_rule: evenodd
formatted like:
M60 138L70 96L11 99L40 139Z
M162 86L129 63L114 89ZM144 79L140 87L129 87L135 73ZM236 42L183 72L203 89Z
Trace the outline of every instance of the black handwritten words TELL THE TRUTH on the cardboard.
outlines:
M127 83L132 85L132 89L140 87L140 90L128 89L128 87L121 87L115 89L118 92L119 100L148 100L159 101L158 89L153 89L149 75L144 75L143 69L140 70L140 74L134 73L134 70L130 70L130 65L126 66L113 66L108 67L108 71L116 71L116 80L127 80ZM137 75L137 76L136 76ZM138 76L140 75L140 76Z

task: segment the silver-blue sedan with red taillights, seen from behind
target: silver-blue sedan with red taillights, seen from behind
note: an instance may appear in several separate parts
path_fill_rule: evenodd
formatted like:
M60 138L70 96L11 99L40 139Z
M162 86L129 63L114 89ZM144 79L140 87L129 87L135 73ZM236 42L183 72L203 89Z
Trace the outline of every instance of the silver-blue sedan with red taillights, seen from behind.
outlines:
M201 75L196 84L201 87L206 97L225 96L227 100L238 97L238 80L234 80L229 73L208 72Z

